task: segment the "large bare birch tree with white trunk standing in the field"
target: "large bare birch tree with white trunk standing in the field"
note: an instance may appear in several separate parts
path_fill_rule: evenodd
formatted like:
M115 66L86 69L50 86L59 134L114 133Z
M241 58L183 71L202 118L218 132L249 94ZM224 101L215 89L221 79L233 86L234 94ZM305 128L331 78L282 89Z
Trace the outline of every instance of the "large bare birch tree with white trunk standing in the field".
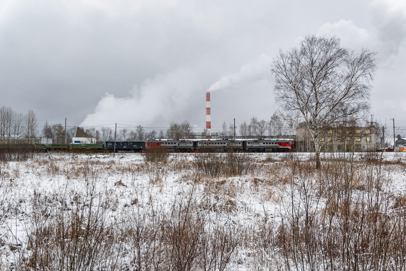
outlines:
M280 50L272 60L276 103L287 119L304 122L309 129L317 169L323 127L356 119L369 108L374 55L367 49L355 53L343 48L335 36L307 35L297 47Z

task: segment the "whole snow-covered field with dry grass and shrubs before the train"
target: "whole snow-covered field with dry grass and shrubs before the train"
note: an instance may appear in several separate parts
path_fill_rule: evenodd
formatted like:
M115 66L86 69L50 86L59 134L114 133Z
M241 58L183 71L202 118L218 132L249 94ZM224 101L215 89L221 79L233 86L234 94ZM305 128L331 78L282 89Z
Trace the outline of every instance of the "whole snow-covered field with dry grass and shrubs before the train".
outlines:
M404 270L406 153L0 162L0 270Z

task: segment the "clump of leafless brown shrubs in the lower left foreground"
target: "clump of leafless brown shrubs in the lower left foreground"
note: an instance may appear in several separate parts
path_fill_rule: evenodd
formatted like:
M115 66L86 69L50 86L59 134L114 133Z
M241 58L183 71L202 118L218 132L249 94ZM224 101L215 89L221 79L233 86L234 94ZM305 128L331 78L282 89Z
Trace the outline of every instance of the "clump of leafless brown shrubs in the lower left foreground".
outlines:
M114 204L108 191L97 189L95 179L80 192L69 193L67 186L55 195L35 192L31 224L27 228L27 249L32 253L27 253L26 267L114 269L122 246L117 221L110 219Z

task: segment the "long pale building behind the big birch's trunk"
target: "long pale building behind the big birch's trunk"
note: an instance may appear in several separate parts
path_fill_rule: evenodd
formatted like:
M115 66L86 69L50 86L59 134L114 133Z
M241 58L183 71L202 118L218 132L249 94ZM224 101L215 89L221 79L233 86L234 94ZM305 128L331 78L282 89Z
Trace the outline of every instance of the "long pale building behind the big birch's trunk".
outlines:
M326 127L320 134L322 152L367 152L376 150L376 129L369 127ZM304 123L296 129L296 151L315 152L315 144Z

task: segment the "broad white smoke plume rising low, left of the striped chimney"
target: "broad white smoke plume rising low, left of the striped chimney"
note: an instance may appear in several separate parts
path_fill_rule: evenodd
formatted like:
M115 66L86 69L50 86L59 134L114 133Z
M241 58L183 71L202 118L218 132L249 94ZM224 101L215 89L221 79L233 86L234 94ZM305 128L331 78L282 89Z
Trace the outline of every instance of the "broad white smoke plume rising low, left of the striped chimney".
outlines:
M103 125L109 121L134 121L138 125L139 121L181 119L194 91L203 89L197 74L196 70L177 69L147 78L140 86L134 86L127 97L106 93L80 126Z

